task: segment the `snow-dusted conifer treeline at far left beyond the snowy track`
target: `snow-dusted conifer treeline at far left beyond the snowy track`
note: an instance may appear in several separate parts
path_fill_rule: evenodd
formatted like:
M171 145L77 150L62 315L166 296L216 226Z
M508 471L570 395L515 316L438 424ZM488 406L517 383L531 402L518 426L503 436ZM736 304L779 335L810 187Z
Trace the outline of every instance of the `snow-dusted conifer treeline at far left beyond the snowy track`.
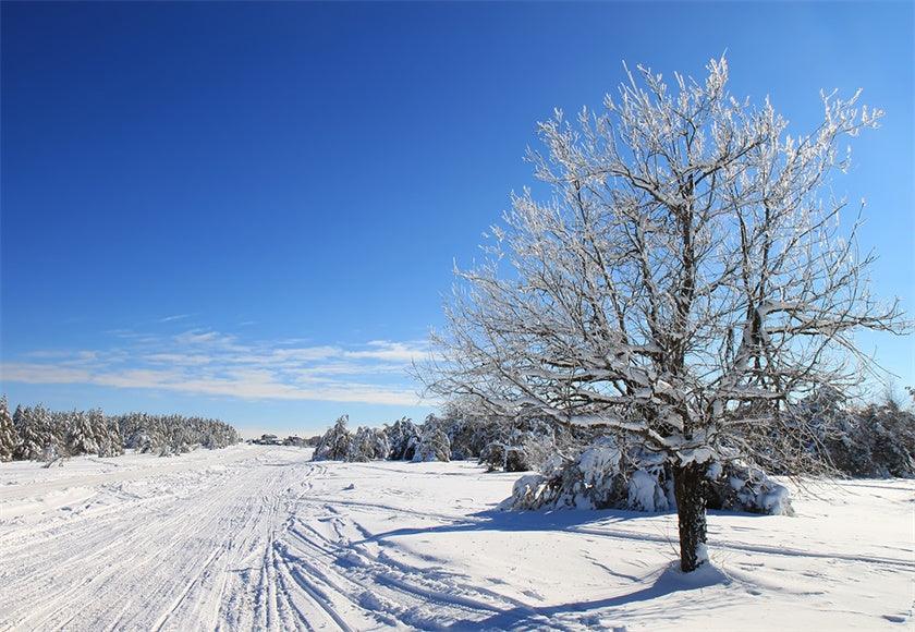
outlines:
M50 411L41 404L16 406L10 415L0 398L0 461L53 461L63 457L117 457L125 450L180 454L195 448L224 448L239 435L219 420L183 415L89 411Z

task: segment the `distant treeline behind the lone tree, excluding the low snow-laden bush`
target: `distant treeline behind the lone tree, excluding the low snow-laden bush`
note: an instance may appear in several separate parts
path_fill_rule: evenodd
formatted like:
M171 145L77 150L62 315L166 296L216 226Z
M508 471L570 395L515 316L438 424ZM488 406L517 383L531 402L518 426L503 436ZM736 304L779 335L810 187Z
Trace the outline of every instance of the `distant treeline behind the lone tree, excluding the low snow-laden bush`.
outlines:
M891 397L854 405L838 391L821 390L792 405L781 423L803 425L810 428L809 435L804 441L785 441L785 436L796 437L792 433L747 437L756 443L754 467L779 475L915 476L915 414ZM344 415L317 440L313 458L475 459L490 470L525 472L540 470L557 458L571 462L605 434L536 414L493 415L462 401L447 406L443 416L429 415L420 424L404 417L380 428L351 429ZM633 442L622 434L614 438L621 446ZM727 453L728 447L722 451Z

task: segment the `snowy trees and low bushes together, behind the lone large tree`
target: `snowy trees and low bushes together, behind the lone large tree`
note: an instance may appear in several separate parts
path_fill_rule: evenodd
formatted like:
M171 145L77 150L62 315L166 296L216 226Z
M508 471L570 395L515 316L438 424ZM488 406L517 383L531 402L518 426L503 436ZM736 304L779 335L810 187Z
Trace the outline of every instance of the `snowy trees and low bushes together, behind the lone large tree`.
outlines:
M797 435L776 432L751 437L757 442L756 462L740 450L720 448L725 457L705 470L709 508L791 513L788 489L772 474L915 477L915 414L892 398L855 406L823 390L792 405L782 423L810 428L807 440L788 442L785 436ZM473 459L490 471L537 472L518 479L507 509L664 511L675 506L669 463L632 437L534 414L492 415L466 401L422 424L404 417L353 430L347 417L340 417L318 440L313 459Z

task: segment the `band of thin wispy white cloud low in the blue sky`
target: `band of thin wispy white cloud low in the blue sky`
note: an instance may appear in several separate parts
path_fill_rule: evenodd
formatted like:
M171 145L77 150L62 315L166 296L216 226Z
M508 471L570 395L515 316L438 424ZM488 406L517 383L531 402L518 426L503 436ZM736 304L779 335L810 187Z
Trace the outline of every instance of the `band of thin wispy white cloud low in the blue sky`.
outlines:
M109 332L99 350L37 350L0 364L0 380L85 384L246 400L312 400L416 405L407 375L425 353L417 341L304 344L244 341L215 330L176 335Z

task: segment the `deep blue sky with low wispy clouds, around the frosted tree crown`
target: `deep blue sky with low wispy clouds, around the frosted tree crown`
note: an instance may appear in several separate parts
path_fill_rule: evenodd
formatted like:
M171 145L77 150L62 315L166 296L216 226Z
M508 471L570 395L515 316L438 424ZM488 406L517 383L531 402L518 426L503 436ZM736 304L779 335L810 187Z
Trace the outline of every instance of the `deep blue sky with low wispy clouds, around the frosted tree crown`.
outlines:
M621 61L887 111L839 193L915 311L913 4L2 4L2 389L312 432L422 416L441 323L534 123ZM913 341L863 338L915 382Z

